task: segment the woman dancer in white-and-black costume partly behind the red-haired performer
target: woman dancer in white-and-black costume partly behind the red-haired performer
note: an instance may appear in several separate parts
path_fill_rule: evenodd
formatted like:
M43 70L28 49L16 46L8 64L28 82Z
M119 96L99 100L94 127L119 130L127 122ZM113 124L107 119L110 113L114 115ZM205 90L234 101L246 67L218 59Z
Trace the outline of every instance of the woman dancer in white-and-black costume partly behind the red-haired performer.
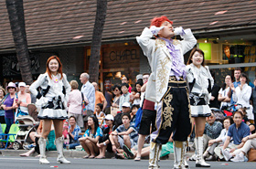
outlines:
M189 100L191 116L195 121L195 145L196 166L210 167L203 158L204 143L203 134L206 125L206 117L211 115L208 107L209 93L213 86L213 78L205 66L204 52L199 48L193 48L187 61L187 82L189 83Z

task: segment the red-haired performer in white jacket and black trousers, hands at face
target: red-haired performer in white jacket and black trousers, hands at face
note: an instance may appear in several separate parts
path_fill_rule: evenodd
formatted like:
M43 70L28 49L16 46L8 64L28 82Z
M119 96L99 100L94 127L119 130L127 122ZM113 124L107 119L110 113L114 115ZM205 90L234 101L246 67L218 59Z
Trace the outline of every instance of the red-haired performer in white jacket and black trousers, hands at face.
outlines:
M166 16L155 17L150 29L145 27L142 35L136 37L152 69L145 99L157 103L157 130L151 134L149 168L159 168L161 145L168 142L172 132L175 132L174 168L184 168L187 136L191 131L183 55L197 44L197 39L190 29L174 29L172 24ZM156 40L151 39L153 35ZM173 40L177 35L184 40Z

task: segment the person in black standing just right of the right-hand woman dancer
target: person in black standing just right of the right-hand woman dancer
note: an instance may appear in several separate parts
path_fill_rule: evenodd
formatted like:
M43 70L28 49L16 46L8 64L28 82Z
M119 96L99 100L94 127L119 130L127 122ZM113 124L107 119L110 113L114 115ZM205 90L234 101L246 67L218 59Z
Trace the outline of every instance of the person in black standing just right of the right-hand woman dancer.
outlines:
M212 78L215 81L215 72L212 69L210 69L209 72L210 72ZM218 96L219 96L219 86L216 83L214 83L213 87L212 87L212 90L211 90L211 97L210 97L210 100L209 100L209 107L210 108L219 109Z

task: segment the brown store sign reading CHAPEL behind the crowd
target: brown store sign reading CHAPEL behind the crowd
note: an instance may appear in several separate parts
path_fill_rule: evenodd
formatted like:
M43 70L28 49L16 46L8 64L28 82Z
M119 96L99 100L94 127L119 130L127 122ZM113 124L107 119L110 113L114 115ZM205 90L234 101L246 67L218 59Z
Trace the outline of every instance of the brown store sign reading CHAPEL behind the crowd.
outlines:
M140 48L123 46L103 48L103 69L137 68L140 66Z

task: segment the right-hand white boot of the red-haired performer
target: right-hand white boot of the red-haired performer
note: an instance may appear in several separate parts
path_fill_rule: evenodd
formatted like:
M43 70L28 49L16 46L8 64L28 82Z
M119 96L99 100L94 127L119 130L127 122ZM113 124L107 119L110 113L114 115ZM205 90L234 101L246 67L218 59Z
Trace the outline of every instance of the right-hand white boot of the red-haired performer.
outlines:
M184 156L185 156L186 142L174 142L174 169L185 169Z

